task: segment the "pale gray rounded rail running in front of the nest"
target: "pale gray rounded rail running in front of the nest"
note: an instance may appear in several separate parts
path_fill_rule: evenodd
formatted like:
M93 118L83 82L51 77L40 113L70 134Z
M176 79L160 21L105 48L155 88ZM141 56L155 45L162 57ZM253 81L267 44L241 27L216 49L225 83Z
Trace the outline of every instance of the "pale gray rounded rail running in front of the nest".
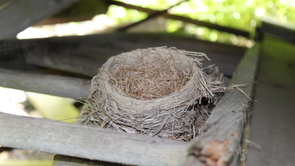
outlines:
M181 165L188 144L0 112L5 147L142 166Z

